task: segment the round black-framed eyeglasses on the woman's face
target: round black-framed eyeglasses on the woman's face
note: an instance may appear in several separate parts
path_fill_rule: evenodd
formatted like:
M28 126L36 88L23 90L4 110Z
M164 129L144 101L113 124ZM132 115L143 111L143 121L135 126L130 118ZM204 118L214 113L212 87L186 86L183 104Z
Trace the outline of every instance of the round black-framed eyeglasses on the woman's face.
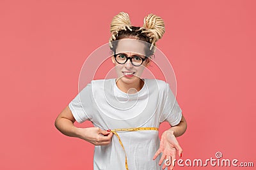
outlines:
M116 62L118 62L119 64L125 64L127 60L130 60L133 66L140 66L144 62L144 60L147 59L146 56L138 54L132 55L132 57L128 57L126 53L115 53L114 57Z

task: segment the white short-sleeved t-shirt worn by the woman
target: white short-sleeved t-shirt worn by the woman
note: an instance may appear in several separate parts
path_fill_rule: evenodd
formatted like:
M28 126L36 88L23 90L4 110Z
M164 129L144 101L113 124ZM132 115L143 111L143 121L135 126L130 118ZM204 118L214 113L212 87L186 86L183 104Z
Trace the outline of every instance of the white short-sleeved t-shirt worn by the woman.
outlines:
M163 121L179 124L182 110L168 83L142 79L143 88L136 94L126 94L116 86L116 80L92 80L68 104L74 118L82 123L90 120L101 129L159 127ZM129 170L161 169L158 131L118 132L127 155ZM125 152L113 135L107 146L95 146L93 169L125 169Z

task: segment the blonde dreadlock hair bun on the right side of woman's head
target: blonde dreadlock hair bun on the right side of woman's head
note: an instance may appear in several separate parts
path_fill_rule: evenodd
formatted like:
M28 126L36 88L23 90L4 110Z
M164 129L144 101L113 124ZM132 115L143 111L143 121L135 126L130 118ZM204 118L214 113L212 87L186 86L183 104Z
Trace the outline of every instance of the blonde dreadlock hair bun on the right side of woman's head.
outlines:
M161 17L158 17L157 15L154 15L152 13L148 14L147 17L144 18L143 27L147 30L142 32L145 32L147 36L151 39L152 45L155 45L156 41L158 41L158 39L161 39L165 32L164 20Z

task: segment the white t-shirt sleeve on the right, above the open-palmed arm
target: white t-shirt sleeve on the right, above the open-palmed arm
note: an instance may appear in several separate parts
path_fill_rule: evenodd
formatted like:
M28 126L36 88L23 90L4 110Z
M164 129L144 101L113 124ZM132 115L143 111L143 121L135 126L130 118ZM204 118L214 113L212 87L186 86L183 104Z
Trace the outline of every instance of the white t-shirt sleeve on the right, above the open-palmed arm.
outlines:
M166 89L163 94L163 103L164 106L160 122L167 121L172 126L179 124L182 118L182 110L180 109L180 106L168 83L166 83Z

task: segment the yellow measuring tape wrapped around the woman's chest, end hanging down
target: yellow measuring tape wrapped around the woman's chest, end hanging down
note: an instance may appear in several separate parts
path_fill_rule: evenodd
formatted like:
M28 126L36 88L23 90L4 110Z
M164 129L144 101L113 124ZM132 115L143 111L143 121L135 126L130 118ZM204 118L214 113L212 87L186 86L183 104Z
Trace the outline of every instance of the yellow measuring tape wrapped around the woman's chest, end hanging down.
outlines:
M114 130L111 130L111 132L113 132L113 134L116 135L120 145L124 149L124 145L123 145L123 143L122 143L122 141L120 139L120 136L116 133L118 131L158 131L158 128L157 127L136 127L136 128L124 128L124 129L114 129ZM125 149L124 149L124 153L125 153L125 168L127 170L129 170L128 169L128 164L127 164L127 155L126 155Z

